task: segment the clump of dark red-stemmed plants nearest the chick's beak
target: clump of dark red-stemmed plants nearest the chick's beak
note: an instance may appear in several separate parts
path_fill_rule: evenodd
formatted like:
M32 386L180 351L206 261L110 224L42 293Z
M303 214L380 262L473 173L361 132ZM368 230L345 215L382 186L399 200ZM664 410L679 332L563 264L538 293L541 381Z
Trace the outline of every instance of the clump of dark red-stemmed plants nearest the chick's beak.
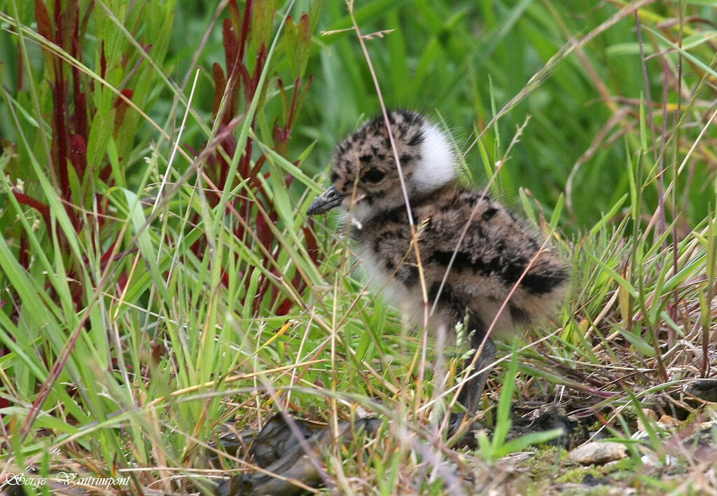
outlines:
M259 80L267 62L267 47L261 40L254 40L257 45L249 50L250 42L252 42L252 14L254 14L254 2L247 0L244 4L243 11L239 11L236 0L229 1L229 17L224 19L222 24L222 37L224 43L224 64L225 69L222 70L218 64L212 66L212 75L214 77L214 101L212 109L214 111L215 120L219 121L219 132L214 142L222 146L227 152L227 156L234 156L236 152L236 140L231 133L223 134L224 128L234 121L237 116L242 116L247 108L250 107L252 99L257 95ZM308 28L308 16L303 16L300 20L300 30ZM294 28L295 29L295 28ZM305 42L310 46L310 36L302 36L298 42ZM255 52L256 56L252 60L247 61L247 53ZM286 98L284 84L278 80L282 97L286 100L284 106L284 115L277 118L272 128L272 139L274 141L275 151L282 156L288 156L288 143L291 138L293 124L298 115L303 96L310 85L311 78L307 82L303 82L300 77L293 80L293 90L290 98ZM240 100L241 98L241 100ZM225 101L224 107L220 109L222 100ZM252 122L252 126L253 126ZM209 146L209 145L208 145ZM275 205L273 204L272 195L265 190L264 183L260 180L260 175L264 179L270 178L270 172L262 172L262 167L266 163L266 156L254 156L254 144L252 139L247 139L242 155L239 158L237 166L237 177L229 177L230 164L217 151L214 151L207 160L206 171L210 174L214 184L219 188L234 187L238 182L244 181L248 191L240 193L239 196L232 199L231 208L227 212L232 212L234 216L240 219L237 227L234 229L234 235L243 243L255 244L252 248L255 253L259 253L262 266L267 268L267 273L259 276L257 291L255 294L247 294L244 296L242 305L250 304L254 312L259 312L262 305L268 305L268 308L274 309L276 314L284 315L290 312L294 305L294 301L285 295L282 295L280 286L277 281L282 280L282 284L288 284L285 279L280 279L280 275L275 262L272 258L276 258L280 251L279 241L275 237L275 228L272 224L277 223L279 218ZM255 161L252 164L252 159ZM286 187L290 187L293 177L285 178ZM212 206L217 205L217 200L212 200ZM198 220L198 219L197 219ZM310 229L303 230L305 242L314 263L318 263L318 246ZM262 248L259 249L258 246ZM206 243L199 240L192 247L198 255L203 253ZM244 274L251 269L242 266L241 261L237 261L237 270ZM300 292L305 289L305 281L299 273L282 274L282 276L291 276L290 284L294 286L295 291ZM249 278L245 278L245 284L250 284ZM222 282L229 284L229 277L224 271L222 273ZM251 298L253 301L249 301Z

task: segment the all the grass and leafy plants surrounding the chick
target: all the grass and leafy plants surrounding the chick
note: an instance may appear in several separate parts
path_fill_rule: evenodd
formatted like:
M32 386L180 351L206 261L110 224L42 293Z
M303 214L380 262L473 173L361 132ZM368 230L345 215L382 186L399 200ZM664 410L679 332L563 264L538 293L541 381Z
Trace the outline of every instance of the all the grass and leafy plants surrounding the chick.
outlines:
M442 123L467 180L574 260L554 322L504 348L518 372L491 381L475 452L429 426L463 350L406 329L336 220L304 215L380 111L356 28L386 105ZM277 411L394 419L366 451L321 452L339 492L582 480L561 451L498 463L526 447L498 435L513 401L624 442L596 477L717 490L713 413L688 389L717 365L713 1L0 0L0 29L0 480L194 491L252 469L205 471L222 426Z

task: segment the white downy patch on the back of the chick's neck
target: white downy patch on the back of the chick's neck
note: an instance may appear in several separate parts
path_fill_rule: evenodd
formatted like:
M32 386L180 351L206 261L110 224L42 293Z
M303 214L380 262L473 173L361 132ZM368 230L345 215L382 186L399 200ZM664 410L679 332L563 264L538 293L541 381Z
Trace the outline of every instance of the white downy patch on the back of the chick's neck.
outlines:
M421 159L416 164L412 182L420 192L432 191L457 177L457 162L447 136L433 124L423 126L425 139Z

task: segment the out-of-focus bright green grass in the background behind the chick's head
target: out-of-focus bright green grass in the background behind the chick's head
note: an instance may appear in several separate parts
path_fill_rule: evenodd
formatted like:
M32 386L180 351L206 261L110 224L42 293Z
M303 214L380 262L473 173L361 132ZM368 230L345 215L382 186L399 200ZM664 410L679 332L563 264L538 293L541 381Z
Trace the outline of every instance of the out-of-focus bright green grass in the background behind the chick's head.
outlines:
M257 2L255 9L263 8L263 4ZM567 3L372 0L356 2L356 20L364 34L388 31L382 37L366 40L386 105L412 108L443 121L457 146L465 150L475 138L475 129L483 130L485 123L521 91L560 47L592 32L627 4L617 0ZM715 49L715 40L709 34L714 33L711 29L717 22L715 6L703 0L687 1L683 6L685 15L695 19L693 25L685 27L684 36L688 39L692 36L694 42L688 50L706 65ZM21 10L30 7L19 5ZM216 7L217 4L209 2L179 2L174 6L174 24L163 65L169 78L177 82L187 78L186 71L206 27L216 15ZM376 115L380 109L356 34L348 30L322 35L351 27L346 4L323 1L317 5L308 0L293 4L295 19L306 11L317 12L311 17L314 43L305 70L306 75L313 75L313 83L293 129L290 150L295 158L315 142L301 167L309 174L317 174L330 165L333 146L362 119ZM662 124L660 103L665 76L664 59L655 54L665 49L661 36L675 37L679 11L680 5L671 2L655 2L641 11L647 79L657 131ZM695 34L695 27L706 27L706 31ZM141 34L140 29L138 39L142 39ZM90 55L87 57L90 67L92 59L96 61L96 47L92 44L98 42L88 37L83 47ZM13 88L17 50L10 37L4 36L1 43L2 59L7 62L4 84ZM39 56L39 49L31 48ZM280 48L286 49L285 45ZM202 72L194 108L206 121L211 120L214 95L211 65L223 59L222 29L218 23L209 33L198 60ZM291 59L282 57L282 65L275 67L275 71L285 75ZM38 64L39 60L38 57ZM675 72L678 60L674 50L668 60L670 71ZM574 172L567 198L569 209L563 214L562 226L574 232L596 222L601 212L607 212L627 192L626 168L630 157L626 144L632 140L634 145L640 139L641 99L647 108L640 61L632 15L566 57L541 86L485 133L484 157L475 146L466 156L478 184L485 184L485 172L503 158L516 126L529 115L531 121L500 173L495 191L504 201L515 203L518 188L525 187L549 214ZM703 70L694 63L685 63L683 69L686 92L698 82ZM145 110L159 123L166 122L174 95L166 86L153 90L152 104ZM699 97L707 108L714 91ZM678 95L674 85L668 100L675 109ZM275 100L270 105L279 103ZM270 115L271 111L267 113ZM669 130L674 125L671 112L668 118ZM8 119L0 121L0 132L11 141L16 138ZM199 146L201 137L196 137L197 132L198 128L190 126L185 141ZM659 136L646 137L660 146ZM647 176L655 174L654 156L651 158L645 166ZM693 225L706 215L711 201L710 188L704 186L713 182L714 156L696 156L690 169L690 174L680 179L678 192L690 199L683 207ZM647 205L655 205L656 200L656 189L647 188Z

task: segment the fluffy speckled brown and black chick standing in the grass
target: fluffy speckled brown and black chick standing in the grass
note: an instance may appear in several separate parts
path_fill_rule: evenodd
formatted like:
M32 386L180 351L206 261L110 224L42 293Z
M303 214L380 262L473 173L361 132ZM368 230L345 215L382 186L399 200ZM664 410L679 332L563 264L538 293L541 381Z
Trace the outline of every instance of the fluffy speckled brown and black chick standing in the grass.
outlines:
M351 238L369 279L414 322L422 322L424 301L402 174L413 223L420 226L419 256L430 304L438 298L429 325L454 329L467 322L473 349L478 353L483 343L483 350L466 366L488 369L495 346L486 332L513 286L520 281L495 331L546 317L564 296L566 265L526 222L488 195L460 184L455 154L437 126L412 111L388 117L401 172L384 118L375 118L338 145L331 187L307 214L333 207L348 210ZM458 399L467 416L478 410L487 378L488 370L474 374L462 388Z

